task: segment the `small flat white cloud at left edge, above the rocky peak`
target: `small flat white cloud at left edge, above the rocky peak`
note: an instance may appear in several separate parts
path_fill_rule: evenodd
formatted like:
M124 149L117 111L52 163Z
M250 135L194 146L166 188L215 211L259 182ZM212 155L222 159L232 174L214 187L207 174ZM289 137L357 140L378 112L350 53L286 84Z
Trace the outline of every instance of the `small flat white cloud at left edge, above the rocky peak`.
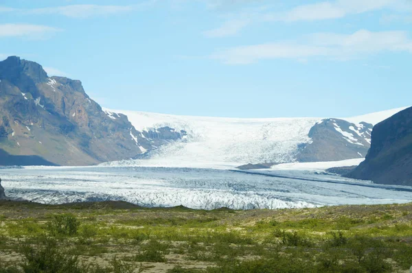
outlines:
M7 36L43 38L47 34L58 31L60 31L60 29L56 27L48 27L47 25L2 24L0 25L0 38Z

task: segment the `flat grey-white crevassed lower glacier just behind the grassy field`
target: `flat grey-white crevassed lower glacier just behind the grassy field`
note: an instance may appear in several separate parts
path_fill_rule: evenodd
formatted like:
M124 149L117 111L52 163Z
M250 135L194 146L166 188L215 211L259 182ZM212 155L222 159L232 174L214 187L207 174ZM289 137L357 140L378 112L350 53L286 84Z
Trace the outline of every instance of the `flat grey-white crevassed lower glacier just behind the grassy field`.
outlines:
M253 171L25 167L1 169L0 176L9 198L45 204L122 200L146 207L286 209L412 201L412 187L374 185L325 174L310 166Z

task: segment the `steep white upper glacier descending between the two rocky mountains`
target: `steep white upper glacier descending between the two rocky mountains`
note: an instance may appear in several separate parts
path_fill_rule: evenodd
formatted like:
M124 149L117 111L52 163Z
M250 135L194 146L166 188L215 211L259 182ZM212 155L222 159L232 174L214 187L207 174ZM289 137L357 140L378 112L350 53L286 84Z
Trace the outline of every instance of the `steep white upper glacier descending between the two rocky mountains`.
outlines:
M236 167L245 163L295 161L298 145L308 143L317 118L235 119L163 115L111 110L127 115L136 130L169 126L185 130L184 141L170 143L150 153L150 159L106 165L166 167Z

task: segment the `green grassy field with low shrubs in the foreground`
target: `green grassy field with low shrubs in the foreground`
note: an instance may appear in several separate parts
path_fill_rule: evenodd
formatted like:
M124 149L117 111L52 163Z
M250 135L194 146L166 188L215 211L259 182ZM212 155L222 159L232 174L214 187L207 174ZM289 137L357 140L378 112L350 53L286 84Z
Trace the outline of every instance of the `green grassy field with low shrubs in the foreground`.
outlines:
M0 202L0 272L409 272L412 204L198 211Z

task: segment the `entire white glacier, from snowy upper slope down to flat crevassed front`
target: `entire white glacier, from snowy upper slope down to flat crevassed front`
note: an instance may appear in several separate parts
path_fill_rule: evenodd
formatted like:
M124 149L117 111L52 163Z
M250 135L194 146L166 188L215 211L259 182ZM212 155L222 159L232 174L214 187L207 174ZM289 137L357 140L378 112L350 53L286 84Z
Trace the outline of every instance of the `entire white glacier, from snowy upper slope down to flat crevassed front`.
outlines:
M187 135L139 159L93 167L0 169L5 194L45 204L122 200L146 207L183 205L192 209L412 202L412 187L374 185L326 171L358 165L364 158L295 162L298 145L312 141L308 132L321 118L235 119L106 111L113 117L117 113L127 115L141 132L156 132L156 128L168 126L178 132L184 130ZM394 111L347 120L376 123ZM263 162L277 164L271 169L236 169L246 163Z

